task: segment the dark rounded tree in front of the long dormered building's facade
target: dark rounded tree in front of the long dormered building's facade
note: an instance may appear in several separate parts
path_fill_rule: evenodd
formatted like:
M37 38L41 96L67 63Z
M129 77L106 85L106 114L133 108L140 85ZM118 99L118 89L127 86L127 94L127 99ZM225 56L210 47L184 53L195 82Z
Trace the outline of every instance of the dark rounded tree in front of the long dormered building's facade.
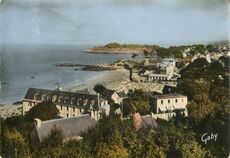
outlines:
M25 117L33 121L34 118L39 118L42 121L51 120L58 117L59 110L52 101L44 101L38 103L28 111Z

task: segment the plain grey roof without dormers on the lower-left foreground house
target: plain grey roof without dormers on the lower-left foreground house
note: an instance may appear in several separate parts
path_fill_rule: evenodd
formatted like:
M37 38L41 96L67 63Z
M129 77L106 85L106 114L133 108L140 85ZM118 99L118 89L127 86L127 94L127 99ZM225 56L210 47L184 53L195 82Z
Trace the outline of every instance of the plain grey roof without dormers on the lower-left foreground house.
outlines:
M95 127L96 120L89 115L82 115L71 118L54 119L42 121L40 127L36 127L36 131L40 142L46 138L52 129L61 130L64 139L79 136L81 132L87 132L88 129Z

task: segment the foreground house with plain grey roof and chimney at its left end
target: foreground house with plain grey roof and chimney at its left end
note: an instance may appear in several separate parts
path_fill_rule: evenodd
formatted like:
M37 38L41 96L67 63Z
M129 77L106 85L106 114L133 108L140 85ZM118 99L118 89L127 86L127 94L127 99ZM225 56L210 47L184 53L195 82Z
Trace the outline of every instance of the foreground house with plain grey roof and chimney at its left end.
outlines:
M35 125L30 134L31 145L33 147L38 146L54 129L62 132L64 141L72 139L79 140L81 139L80 134L82 132L87 132L95 126L96 120L91 118L88 114L48 121L41 121L36 118Z

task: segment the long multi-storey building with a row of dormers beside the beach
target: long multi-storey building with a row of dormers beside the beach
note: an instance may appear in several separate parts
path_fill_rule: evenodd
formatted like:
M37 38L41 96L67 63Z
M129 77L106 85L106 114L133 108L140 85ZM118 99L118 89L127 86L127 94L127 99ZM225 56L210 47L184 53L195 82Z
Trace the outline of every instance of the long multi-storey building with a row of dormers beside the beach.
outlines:
M99 94L29 88L23 99L23 115L33 106L48 100L56 105L60 117L89 113L92 118L98 120L102 112L109 115L110 111L108 100Z

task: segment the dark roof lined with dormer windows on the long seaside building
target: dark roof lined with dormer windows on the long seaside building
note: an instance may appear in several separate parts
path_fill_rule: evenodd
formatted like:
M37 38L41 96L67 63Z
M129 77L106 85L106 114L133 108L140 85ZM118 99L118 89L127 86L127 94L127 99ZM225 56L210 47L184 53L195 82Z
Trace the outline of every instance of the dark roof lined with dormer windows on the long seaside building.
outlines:
M98 96L96 94L82 92L29 88L24 100L52 100L55 104L98 109ZM103 101L103 99L100 97L100 102L101 101Z

